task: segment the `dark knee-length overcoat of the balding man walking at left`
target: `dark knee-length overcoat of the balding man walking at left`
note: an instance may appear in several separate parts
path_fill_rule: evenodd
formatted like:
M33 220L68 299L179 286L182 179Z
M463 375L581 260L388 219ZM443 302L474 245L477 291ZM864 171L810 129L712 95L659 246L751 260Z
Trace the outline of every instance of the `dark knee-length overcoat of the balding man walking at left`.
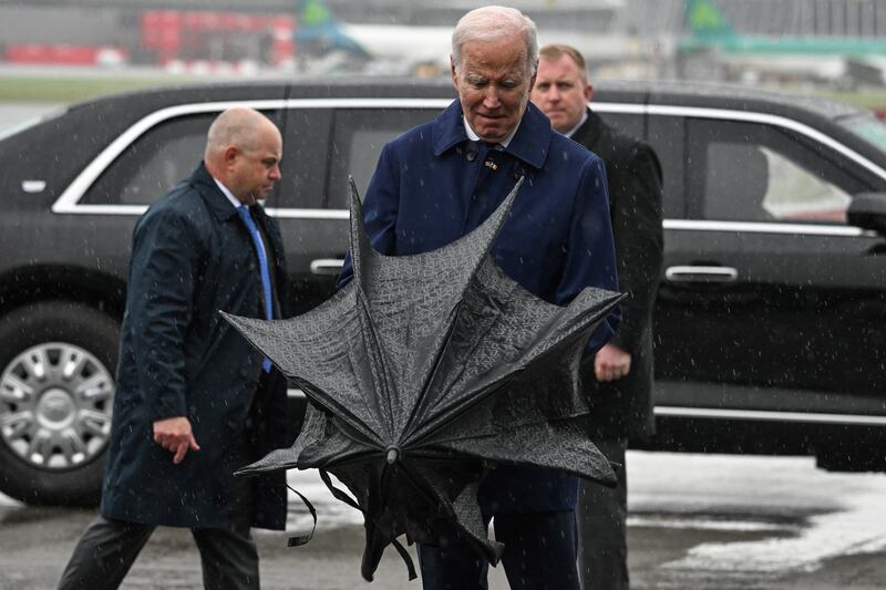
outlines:
M261 207L253 210L269 246L277 317L287 317L291 298L280 230ZM228 528L231 474L291 443L285 380L275 369L258 387L261 356L218 313L262 317L260 281L246 224L203 164L140 218L102 493L104 517ZM187 416L200 445L178 465L153 439L154 421L173 416ZM284 527L284 477L253 482L255 526Z

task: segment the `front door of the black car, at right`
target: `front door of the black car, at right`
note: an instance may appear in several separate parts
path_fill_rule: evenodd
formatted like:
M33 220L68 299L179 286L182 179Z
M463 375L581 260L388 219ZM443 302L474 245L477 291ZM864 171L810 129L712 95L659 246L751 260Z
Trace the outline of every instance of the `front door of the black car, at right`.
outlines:
M883 172L789 121L671 118L686 216L666 221L657 405L886 414L885 245L845 220L853 195L884 190Z

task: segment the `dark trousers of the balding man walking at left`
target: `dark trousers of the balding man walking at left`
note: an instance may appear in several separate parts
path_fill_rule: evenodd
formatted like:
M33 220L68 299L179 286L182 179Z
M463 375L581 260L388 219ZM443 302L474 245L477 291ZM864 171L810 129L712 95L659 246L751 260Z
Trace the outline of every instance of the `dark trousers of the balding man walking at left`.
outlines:
M105 590L123 582L153 525L96 518L80 538L59 589ZM258 552L249 529L192 529L200 552L206 589L258 589Z

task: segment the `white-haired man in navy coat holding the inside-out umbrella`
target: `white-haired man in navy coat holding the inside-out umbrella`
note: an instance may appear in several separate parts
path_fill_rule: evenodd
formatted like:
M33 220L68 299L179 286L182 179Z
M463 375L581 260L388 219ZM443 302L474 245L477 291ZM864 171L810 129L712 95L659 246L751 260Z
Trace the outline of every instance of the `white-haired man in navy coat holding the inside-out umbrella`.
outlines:
M535 24L519 11L485 7L465 14L452 35L459 92L436 118L388 144L365 194L374 248L413 255L476 228L525 182L492 253L523 287L565 304L585 287L617 289L602 162L550 130L529 101L535 81ZM340 284L351 277L344 268ZM597 350L615 320L589 343ZM478 500L511 588L578 588L576 477L499 465ZM425 589L487 588L486 563L456 534L419 548Z

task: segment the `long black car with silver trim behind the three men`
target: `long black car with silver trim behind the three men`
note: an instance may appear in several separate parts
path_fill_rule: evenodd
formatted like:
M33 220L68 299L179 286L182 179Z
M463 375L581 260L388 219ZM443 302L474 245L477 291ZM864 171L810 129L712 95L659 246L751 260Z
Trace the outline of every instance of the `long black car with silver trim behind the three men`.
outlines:
M305 311L341 267L348 175L364 189L382 145L453 99L446 82L163 89L0 138L0 490L95 501L132 229L197 164L222 110L248 104L282 131L267 206ZM885 468L886 126L734 87L600 85L594 107L664 168L646 445Z

